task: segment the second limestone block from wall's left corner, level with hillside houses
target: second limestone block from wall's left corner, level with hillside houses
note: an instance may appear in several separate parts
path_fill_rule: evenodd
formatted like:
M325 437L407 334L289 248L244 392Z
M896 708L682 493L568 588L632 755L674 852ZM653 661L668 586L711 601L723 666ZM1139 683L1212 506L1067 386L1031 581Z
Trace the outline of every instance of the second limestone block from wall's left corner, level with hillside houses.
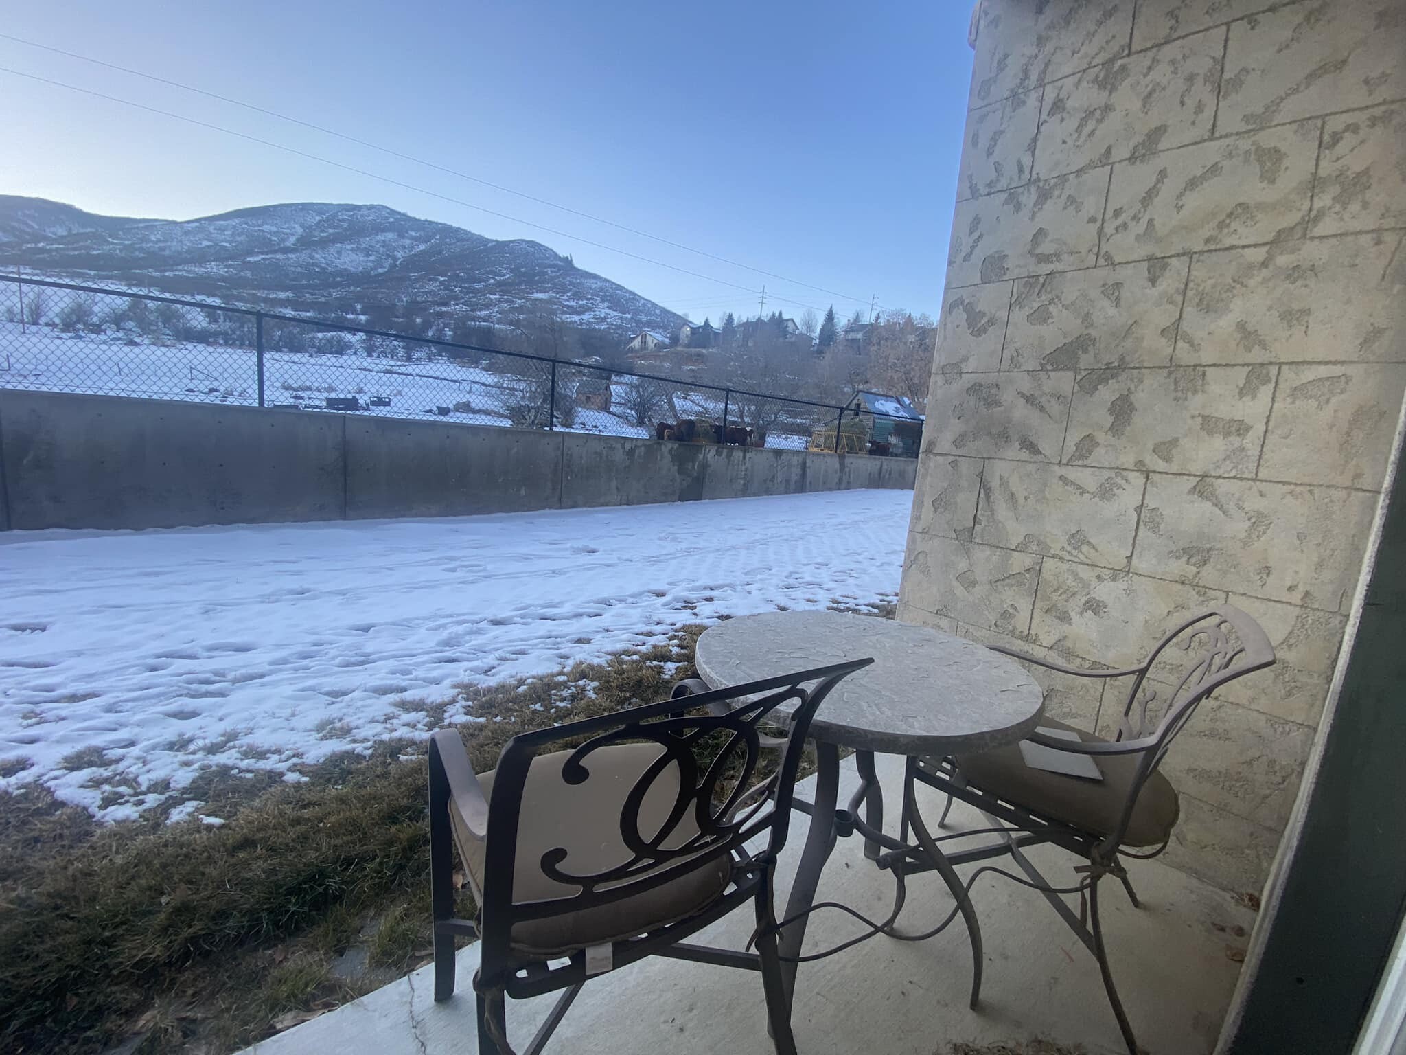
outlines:
M1007 370L1167 366L1189 257L1054 271L1015 283Z

